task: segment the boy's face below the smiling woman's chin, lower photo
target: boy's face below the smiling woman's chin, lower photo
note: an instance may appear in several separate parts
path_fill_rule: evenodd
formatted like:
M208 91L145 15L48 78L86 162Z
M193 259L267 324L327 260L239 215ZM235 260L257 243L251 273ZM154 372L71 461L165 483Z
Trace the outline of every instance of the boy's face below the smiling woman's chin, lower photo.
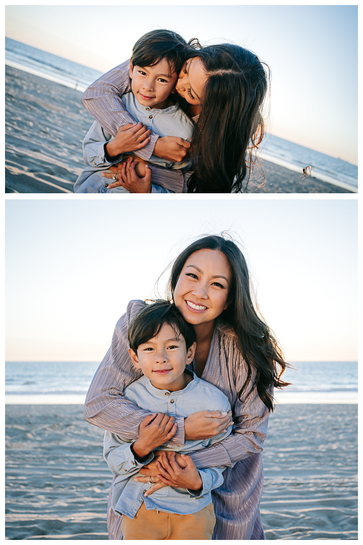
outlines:
M185 366L194 358L195 343L187 350L184 337L168 324L164 324L159 334L144 344L140 344L137 354L129 350L133 364L150 379L159 390L176 392L186 385Z

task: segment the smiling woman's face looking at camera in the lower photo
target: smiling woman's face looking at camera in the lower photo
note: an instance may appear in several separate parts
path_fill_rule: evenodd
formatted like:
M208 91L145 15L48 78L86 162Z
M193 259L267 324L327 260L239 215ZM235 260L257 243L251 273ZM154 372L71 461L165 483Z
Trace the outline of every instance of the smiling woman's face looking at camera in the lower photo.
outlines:
M174 302L189 324L214 321L228 306L231 267L224 253L198 250L184 263Z

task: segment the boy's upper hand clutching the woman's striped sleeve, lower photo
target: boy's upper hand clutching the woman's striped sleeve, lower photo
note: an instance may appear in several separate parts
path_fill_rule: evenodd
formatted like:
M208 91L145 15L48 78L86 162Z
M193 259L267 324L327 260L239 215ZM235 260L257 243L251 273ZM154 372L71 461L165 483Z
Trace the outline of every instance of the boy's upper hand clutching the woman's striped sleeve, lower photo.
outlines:
M142 460L156 447L167 443L176 433L174 416L153 413L140 423L139 438L132 445L137 459Z

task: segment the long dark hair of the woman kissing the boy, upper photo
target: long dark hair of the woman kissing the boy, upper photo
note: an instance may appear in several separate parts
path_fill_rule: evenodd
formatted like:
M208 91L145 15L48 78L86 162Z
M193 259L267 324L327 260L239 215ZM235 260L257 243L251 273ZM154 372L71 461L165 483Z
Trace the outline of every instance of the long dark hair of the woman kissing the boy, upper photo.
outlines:
M262 107L269 68L265 65L265 70L259 57L238 45L196 49L196 40L189 45L188 57L200 57L208 78L193 135L194 173L188 192L245 191L253 171L253 152L264 136Z

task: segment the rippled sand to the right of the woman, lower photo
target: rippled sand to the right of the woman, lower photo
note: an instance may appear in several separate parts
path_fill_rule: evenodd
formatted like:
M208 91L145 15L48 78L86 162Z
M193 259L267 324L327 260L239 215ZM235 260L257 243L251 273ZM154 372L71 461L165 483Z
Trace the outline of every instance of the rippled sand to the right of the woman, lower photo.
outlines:
M357 405L280 405L264 445L268 540L357 539Z

